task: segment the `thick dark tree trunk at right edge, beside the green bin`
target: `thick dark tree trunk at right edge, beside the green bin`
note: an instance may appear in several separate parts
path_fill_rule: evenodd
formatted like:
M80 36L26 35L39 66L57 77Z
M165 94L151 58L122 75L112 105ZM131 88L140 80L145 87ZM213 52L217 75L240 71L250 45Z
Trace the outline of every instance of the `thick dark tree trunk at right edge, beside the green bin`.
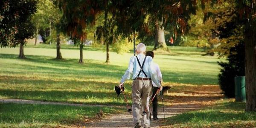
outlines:
M245 111L256 111L256 20L245 24Z

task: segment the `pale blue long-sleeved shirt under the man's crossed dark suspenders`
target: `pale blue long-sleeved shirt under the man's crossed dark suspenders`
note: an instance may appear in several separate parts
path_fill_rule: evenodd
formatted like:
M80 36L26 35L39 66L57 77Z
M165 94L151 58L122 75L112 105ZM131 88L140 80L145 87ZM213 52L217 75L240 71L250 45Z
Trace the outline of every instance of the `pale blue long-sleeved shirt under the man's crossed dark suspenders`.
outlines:
M137 55L140 64L142 66L145 55L140 53ZM145 74L148 76L147 78L151 78L152 81L154 83L156 83L157 87L160 87L161 84L159 82L159 79L157 77L157 72L156 69L154 68L154 64L153 64L153 58L151 56L147 56L146 60L145 60L145 64L143 66L143 71L145 72ZM120 81L120 83L124 83L126 79L130 79L131 77L131 73L133 74L132 79L136 79L138 74L140 72L140 65L137 62L137 58L136 56L132 56L129 62L129 66L128 69L125 71L124 76L122 76L122 79ZM140 76L139 77L146 77L144 75L143 72L140 72Z

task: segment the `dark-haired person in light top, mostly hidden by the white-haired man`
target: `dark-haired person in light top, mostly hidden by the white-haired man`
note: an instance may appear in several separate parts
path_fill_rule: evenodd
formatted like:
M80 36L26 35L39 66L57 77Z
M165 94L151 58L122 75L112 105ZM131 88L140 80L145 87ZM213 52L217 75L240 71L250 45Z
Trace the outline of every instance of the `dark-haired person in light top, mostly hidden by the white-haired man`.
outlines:
M146 52L146 56L151 56L152 58L154 58L154 52L152 51L148 51ZM157 72L157 77L158 79L160 80L160 83L162 83L162 73L160 71L160 68L158 66L158 64L156 63L153 63L153 67L156 69L156 72ZM152 82L153 84L153 95L157 92L157 84L154 83L154 81ZM153 99L153 119L154 120L158 120L157 118L157 96Z

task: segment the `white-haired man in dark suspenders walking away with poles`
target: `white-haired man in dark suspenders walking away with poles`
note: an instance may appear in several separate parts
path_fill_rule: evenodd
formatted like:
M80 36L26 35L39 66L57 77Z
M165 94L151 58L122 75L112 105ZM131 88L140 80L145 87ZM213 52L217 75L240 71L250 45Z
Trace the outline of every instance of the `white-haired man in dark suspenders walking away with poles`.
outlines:
M145 44L138 44L136 52L137 56L131 57L128 69L125 71L124 76L122 76L119 87L123 86L126 79L130 79L132 73L132 79L134 80L131 91L134 128L140 128L141 125L143 125L144 128L149 128L149 111L146 111L146 114L143 115L142 122L140 121L141 112L149 110L148 104L152 96L152 81L160 90L162 90L163 87L157 77L156 69L154 69L152 57L145 56ZM140 106L142 106L142 108ZM140 111L141 109L142 111Z

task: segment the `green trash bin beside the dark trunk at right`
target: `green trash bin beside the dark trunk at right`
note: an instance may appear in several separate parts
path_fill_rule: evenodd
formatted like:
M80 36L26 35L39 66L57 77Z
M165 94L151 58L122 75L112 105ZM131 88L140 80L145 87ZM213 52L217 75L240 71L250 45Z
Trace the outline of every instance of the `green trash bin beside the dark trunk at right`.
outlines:
M245 76L235 77L236 102L246 102Z

